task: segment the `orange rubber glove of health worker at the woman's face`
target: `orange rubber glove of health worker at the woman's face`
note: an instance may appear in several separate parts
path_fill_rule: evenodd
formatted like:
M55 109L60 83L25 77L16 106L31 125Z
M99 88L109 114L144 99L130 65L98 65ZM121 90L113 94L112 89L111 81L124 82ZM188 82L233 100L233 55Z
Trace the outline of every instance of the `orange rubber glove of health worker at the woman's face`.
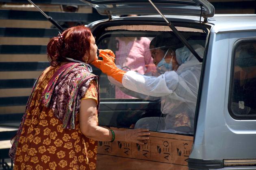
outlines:
M122 83L122 79L126 71L117 68L115 65L115 54L111 50L99 50L102 60L95 60L91 62L95 67L99 68L103 73L113 77L115 80Z

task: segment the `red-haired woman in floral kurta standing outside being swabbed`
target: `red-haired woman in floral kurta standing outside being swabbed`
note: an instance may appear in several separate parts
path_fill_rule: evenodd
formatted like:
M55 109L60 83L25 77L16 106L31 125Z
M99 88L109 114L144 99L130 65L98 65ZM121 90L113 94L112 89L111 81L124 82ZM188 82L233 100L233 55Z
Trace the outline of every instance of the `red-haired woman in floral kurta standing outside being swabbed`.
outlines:
M143 144L148 130L108 130L98 126L98 76L88 63L97 60L89 28L76 26L50 40L51 66L33 87L20 128L12 139L14 169L95 169L97 142ZM100 51L105 53L104 50Z

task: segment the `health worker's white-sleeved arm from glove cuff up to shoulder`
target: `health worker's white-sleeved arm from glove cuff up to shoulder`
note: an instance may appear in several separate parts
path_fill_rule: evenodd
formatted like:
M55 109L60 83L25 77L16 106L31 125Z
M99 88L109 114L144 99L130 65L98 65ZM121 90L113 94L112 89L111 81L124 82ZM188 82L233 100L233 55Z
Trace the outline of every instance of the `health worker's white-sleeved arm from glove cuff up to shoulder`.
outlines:
M165 72L158 77L141 75L134 71L124 74L122 85L132 91L148 96L167 96L184 102L196 102L201 65Z

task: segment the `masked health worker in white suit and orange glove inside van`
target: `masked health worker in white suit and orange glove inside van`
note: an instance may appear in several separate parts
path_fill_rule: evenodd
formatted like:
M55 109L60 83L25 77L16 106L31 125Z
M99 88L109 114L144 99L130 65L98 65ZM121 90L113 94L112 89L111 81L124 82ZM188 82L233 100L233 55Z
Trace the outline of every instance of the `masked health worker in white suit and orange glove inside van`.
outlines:
M199 44L192 47L203 57L204 47ZM157 66L157 77L117 68L109 57L115 57L111 51L102 54L103 61L96 60L92 64L112 77L111 82L130 96L146 100L161 99L163 117L139 119L135 128L193 133L202 63L169 32L159 34L151 41L150 52Z

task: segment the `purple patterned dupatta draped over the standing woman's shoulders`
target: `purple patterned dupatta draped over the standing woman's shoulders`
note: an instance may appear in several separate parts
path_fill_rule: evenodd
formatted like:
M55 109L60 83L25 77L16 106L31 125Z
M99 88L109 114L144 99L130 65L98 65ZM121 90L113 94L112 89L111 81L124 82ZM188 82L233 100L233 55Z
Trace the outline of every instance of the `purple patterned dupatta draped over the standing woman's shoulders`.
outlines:
M22 122L17 134L11 139L12 147L9 151L9 155L11 158L13 158L13 160L22 132L22 127L24 125L24 121L26 120L30 104L33 101L33 96L40 77L33 86L32 93L26 104L26 112L22 117ZM74 129L74 122L80 109L81 98L85 95L85 92L89 87L89 83L93 79L98 84L98 76L91 74L87 70L87 66L84 64L74 62L64 64L53 74L52 78L48 82L46 89L41 95L41 104L47 108L51 108L54 111L54 115L63 122L63 128ZM98 108L100 103L99 87L97 91Z

